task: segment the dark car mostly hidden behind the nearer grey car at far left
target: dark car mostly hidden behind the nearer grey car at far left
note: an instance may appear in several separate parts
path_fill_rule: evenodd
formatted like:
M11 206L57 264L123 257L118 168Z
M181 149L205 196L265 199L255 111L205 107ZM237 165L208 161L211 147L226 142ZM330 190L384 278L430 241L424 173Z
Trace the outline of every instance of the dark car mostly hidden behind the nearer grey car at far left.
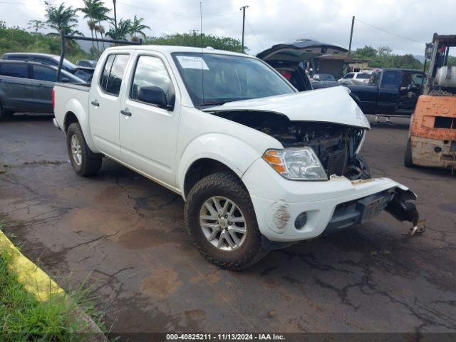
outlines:
M3 59L14 59L15 61L31 61L37 63L43 63L47 66L58 66L60 56L50 55L48 53L4 53ZM76 66L67 59L63 59L62 68L68 73L72 73L74 76L81 78L83 81L90 81L93 75L93 68L87 68L83 66Z

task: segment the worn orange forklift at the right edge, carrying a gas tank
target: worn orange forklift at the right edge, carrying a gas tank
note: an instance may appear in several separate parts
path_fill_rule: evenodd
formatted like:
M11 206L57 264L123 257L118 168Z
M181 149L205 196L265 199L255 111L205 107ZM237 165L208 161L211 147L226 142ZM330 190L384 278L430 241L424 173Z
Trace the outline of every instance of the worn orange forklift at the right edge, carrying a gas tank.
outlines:
M426 44L423 95L410 120L405 152L406 167L427 166L455 170L456 167L456 66L448 66L450 47L456 35L434 33Z

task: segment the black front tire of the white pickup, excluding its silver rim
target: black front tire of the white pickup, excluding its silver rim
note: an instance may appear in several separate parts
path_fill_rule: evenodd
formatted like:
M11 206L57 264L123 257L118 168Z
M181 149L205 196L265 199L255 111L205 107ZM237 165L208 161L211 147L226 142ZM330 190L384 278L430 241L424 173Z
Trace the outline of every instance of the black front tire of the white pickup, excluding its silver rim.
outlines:
M227 197L236 203L244 214L247 233L244 242L237 249L224 251L215 247L199 225L200 209L204 202L213 196ZM249 193L241 180L229 172L217 172L204 177L190 190L185 202L185 227L204 258L223 269L247 269L267 253L261 247L261 233Z

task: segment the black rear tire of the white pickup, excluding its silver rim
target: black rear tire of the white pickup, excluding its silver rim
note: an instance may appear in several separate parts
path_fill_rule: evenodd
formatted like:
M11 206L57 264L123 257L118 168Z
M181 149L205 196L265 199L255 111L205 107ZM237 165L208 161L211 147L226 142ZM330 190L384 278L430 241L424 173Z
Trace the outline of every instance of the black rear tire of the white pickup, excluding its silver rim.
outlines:
M74 157L71 152L71 141L73 139L73 135L76 136L81 146L80 162L76 160L76 157ZM68 127L68 130L66 131L66 148L68 150L68 157L70 158L71 166L78 175L90 176L95 175L95 173L100 171L102 159L101 155L90 150L79 123L72 123Z

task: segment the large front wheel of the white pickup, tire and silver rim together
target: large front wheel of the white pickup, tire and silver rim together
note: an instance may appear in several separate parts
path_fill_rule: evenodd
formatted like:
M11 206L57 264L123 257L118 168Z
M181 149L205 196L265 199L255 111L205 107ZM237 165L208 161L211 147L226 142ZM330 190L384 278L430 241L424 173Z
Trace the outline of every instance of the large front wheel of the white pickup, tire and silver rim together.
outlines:
M185 225L199 252L224 269L246 269L266 255L249 193L229 172L204 177L190 190Z

